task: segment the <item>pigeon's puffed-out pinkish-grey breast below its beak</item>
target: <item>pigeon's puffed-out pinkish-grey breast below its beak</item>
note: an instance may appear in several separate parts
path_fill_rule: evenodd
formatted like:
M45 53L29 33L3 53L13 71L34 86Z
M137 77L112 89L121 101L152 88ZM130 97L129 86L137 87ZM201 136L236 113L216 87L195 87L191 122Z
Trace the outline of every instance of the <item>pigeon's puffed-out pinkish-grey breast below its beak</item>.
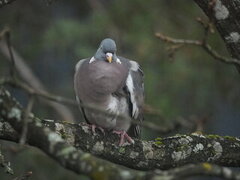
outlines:
M105 104L112 93L125 85L127 75L124 64L84 62L75 75L76 93L83 102Z

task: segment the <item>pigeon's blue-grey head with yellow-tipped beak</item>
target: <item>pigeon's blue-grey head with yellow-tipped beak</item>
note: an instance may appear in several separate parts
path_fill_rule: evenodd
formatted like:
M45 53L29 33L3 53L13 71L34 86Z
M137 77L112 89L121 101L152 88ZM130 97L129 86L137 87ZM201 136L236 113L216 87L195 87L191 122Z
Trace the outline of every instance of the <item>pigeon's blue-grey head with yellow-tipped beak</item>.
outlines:
M110 38L106 38L102 40L94 58L111 63L112 61L118 60L116 52L117 46L115 41Z

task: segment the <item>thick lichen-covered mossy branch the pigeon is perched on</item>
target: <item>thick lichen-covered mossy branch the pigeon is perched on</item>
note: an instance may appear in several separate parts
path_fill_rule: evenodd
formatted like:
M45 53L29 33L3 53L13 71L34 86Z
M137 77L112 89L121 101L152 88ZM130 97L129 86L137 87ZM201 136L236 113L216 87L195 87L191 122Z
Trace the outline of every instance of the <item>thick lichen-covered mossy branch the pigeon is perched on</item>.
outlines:
M135 140L134 145L119 147L119 137L101 132L92 135L84 123L77 126L52 122L51 126L76 148L133 169L169 169L200 162L240 165L240 140L234 137L177 135L154 141Z

